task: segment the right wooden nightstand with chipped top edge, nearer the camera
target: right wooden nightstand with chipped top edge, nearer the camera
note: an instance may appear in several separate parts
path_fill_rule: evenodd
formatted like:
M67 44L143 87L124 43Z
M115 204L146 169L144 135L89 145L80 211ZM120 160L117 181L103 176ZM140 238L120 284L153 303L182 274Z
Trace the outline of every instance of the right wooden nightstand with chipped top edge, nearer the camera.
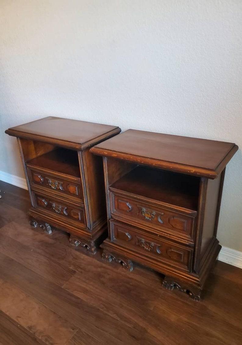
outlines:
M138 130L90 151L103 156L109 238L103 258L165 275L163 285L199 300L221 246L216 239L229 142Z

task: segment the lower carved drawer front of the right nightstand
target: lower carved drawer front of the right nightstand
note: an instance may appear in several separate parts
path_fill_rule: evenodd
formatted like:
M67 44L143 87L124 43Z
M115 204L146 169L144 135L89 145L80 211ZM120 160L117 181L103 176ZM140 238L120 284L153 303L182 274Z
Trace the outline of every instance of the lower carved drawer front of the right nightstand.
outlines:
M139 229L110 220L111 242L129 247L142 255L185 270L191 269L193 249L172 241L149 236Z

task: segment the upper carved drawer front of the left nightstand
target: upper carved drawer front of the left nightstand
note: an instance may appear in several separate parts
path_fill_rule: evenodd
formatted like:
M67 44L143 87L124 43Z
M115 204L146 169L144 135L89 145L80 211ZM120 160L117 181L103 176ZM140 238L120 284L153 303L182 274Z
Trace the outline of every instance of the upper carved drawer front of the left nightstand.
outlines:
M67 181L65 179L56 177L54 174L46 174L30 169L31 185L36 184L49 188L53 191L58 191L63 194L71 195L82 199L81 185L74 181Z

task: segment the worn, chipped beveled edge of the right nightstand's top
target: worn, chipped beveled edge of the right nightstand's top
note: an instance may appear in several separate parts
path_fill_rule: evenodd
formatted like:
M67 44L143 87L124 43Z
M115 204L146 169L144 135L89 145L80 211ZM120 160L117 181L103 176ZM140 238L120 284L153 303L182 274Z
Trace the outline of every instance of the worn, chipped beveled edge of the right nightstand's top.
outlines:
M148 165L151 167L160 168L164 170L180 172L182 174L193 175L193 176L198 176L198 177L207 177L212 180L217 178L220 175L220 173L222 172L226 164L229 162L229 160L232 158L232 156L235 154L237 150L238 150L238 146L234 144L234 146L231 148L228 154L219 163L218 167L212 170L212 169L190 166L190 165L176 163L176 162L153 159L149 157L136 156L133 154L129 155L124 152L107 150L107 149L96 147L96 146L90 149L90 151L93 154L98 155L98 156L106 156L106 157L112 157L112 158L117 158L117 159L123 159L131 163L135 162L140 165L146 165L146 166Z

